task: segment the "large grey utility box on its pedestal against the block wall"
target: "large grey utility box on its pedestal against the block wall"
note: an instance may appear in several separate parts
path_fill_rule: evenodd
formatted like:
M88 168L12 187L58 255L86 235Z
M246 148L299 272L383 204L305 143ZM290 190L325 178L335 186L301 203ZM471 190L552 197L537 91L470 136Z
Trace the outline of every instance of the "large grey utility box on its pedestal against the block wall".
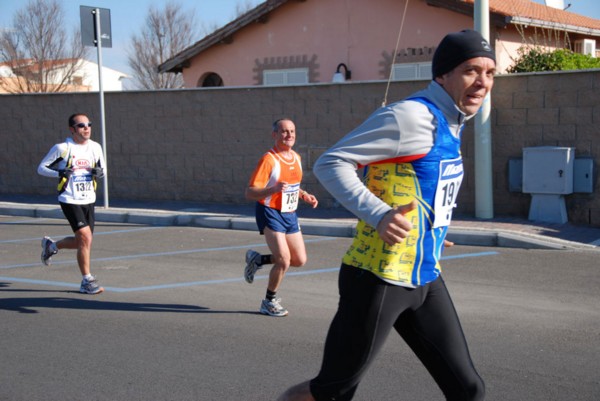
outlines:
M523 148L523 192L531 194L529 220L568 221L564 195L573 193L575 148Z

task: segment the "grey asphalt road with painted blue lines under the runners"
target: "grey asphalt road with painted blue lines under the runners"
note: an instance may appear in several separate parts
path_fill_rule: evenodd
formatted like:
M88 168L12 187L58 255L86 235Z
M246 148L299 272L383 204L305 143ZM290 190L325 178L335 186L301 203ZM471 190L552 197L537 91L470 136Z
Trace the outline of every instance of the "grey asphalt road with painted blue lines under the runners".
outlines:
M349 238L307 236L309 262L258 314L242 277L249 231L101 223L78 293L73 251L42 267L40 238L64 220L0 216L0 400L273 400L314 376ZM444 276L490 401L600 399L598 253L455 246ZM391 336L355 400L442 400Z

